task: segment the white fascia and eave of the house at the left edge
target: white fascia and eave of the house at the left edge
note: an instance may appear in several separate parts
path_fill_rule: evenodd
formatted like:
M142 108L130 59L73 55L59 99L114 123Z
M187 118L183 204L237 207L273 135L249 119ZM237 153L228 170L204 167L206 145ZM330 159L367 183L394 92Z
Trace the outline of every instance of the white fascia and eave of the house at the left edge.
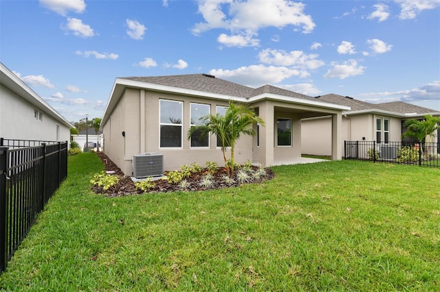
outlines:
M12 90L14 93L19 95L21 98L28 101L30 104L43 110L46 114L49 114L54 119L61 121L67 127L74 127L69 121L67 121L61 114L59 114L50 104L42 99L38 94L35 93L28 85L26 85L23 80L21 80L17 75L12 73L3 63L0 62L0 80L1 84Z

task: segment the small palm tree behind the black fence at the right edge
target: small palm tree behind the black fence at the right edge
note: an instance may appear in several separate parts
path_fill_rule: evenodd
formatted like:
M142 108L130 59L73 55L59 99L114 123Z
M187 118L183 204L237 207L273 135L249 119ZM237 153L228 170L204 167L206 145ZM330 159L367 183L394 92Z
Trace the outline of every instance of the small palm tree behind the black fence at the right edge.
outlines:
M404 122L404 126L407 127L407 130L401 135L401 138L413 137L422 145L423 141L426 142L427 136L431 139L431 137L434 136L434 132L440 129L440 117L427 115L425 119L421 121L410 119ZM421 149L421 151L423 151L423 149Z

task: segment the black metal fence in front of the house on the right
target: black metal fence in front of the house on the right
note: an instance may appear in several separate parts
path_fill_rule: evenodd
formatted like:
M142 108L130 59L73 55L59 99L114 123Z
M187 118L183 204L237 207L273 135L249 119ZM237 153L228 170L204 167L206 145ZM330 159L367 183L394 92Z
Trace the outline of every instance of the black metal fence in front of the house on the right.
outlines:
M352 160L440 168L439 143L344 141L344 157Z

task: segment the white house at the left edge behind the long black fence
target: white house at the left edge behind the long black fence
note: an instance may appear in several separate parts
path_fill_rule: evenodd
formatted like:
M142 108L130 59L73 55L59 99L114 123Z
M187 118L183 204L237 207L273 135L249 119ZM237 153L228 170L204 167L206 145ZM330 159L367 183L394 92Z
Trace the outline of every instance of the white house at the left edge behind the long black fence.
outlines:
M69 141L74 127L0 63L0 137Z

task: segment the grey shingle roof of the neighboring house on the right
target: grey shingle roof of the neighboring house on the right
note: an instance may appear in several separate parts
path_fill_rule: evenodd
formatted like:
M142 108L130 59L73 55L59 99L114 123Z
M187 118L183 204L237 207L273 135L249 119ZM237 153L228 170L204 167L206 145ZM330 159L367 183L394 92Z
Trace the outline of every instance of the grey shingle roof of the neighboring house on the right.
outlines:
M330 102L332 104L340 104L342 106L349 106L351 110L344 112L345 114L362 114L366 112L378 112L383 114L391 114L397 117L422 117L426 114L440 115L440 112L431 110L430 108L423 108L408 104L403 101L386 102L383 104L370 104L366 101L353 99L353 97L344 97L342 95L328 94L317 97L320 100Z

